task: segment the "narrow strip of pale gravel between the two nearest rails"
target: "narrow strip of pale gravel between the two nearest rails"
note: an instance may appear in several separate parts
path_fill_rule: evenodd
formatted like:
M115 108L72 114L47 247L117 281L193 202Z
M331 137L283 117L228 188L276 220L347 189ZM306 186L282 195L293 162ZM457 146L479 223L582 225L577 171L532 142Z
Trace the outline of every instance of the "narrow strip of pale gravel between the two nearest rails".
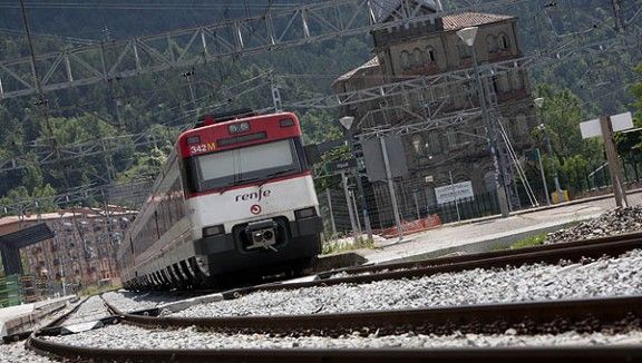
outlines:
M577 334L515 336L510 334L477 335L460 334L367 337L347 335L339 339L323 336L271 337L262 334L226 335L198 332L195 328L175 331L144 330L128 325L113 325L79 335L51 337L51 340L84 346L108 349L378 349L378 347L490 347L490 346L560 346L560 345L607 345L641 344L642 332L628 334Z

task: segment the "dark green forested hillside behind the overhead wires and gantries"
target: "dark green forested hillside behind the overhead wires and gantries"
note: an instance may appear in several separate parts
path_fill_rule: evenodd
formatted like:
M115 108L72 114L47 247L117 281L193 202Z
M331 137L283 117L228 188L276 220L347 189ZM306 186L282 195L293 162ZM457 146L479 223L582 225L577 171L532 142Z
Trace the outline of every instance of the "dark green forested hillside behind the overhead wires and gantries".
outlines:
M446 9L467 7L468 2L442 1ZM30 19L37 51L43 52L75 47L87 40L127 39L256 16L262 13L265 3L284 7L301 1L136 0L125 3L93 0L61 9L54 8L54 4L33 8L30 9ZM625 4L625 18L636 19L635 11L642 7L642 0ZM18 9L14 3L0 2L0 60L27 56L28 48L23 37L19 36L22 24ZM477 10L519 17L521 41L527 56L551 52L568 42L603 41L616 35L607 0L568 0L549 8L536 1L522 1L515 6L481 7ZM216 105L216 110L270 107L271 94L268 78L264 77L268 71L286 75L278 80L289 100L327 95L331 92L330 86L335 76L371 57L370 48L371 40L364 35L198 67L194 70L196 106L204 109ZM536 61L532 68L533 87L551 84L558 89L568 88L587 102L585 107L590 115L601 110L623 110L633 101L626 86L640 77L633 72L633 66L640 59L640 49L630 49L597 55L580 53L560 61ZM29 155L52 145L70 145L100 137L136 133L154 135L154 143L147 147L135 148L134 141L129 140L125 143L126 147L106 156L4 173L0 178L0 195L12 195L4 202L154 175L163 153L177 133L176 126L194 119L189 91L182 72L173 70L48 94L49 125L33 105L36 98L3 100L0 104L2 159ZM254 81L246 82L249 79ZM323 140L331 134L338 134L331 122L335 119L333 110L296 111L302 116L309 141ZM156 127L149 131L152 126L159 124L167 127ZM156 150L150 153L154 148ZM107 177L106 166L110 169Z

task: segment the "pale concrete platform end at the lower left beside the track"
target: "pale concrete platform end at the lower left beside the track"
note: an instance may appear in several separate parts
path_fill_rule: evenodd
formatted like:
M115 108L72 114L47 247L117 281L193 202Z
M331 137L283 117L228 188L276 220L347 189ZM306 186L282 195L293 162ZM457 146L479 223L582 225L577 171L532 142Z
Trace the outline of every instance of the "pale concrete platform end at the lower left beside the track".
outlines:
M67 307L74 300L76 300L76 296L71 295L0 308L0 337L40 327L48 315Z

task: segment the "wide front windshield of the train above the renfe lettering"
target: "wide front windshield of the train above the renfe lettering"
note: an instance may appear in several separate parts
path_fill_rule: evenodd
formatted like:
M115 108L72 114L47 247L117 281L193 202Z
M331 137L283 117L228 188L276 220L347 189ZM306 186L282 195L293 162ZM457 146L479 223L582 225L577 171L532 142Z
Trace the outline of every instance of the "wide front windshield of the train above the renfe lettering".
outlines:
M301 171L292 139L260 144L196 158L198 192L268 180Z

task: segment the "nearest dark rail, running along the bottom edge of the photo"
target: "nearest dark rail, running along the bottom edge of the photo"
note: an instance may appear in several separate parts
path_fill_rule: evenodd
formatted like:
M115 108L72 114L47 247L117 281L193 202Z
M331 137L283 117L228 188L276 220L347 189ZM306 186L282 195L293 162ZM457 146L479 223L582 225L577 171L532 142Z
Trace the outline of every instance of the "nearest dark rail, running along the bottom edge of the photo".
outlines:
M642 359L638 346L527 347L458 350L111 350L70 347L52 342L32 342L39 351L78 362L239 362L239 363L631 363Z

